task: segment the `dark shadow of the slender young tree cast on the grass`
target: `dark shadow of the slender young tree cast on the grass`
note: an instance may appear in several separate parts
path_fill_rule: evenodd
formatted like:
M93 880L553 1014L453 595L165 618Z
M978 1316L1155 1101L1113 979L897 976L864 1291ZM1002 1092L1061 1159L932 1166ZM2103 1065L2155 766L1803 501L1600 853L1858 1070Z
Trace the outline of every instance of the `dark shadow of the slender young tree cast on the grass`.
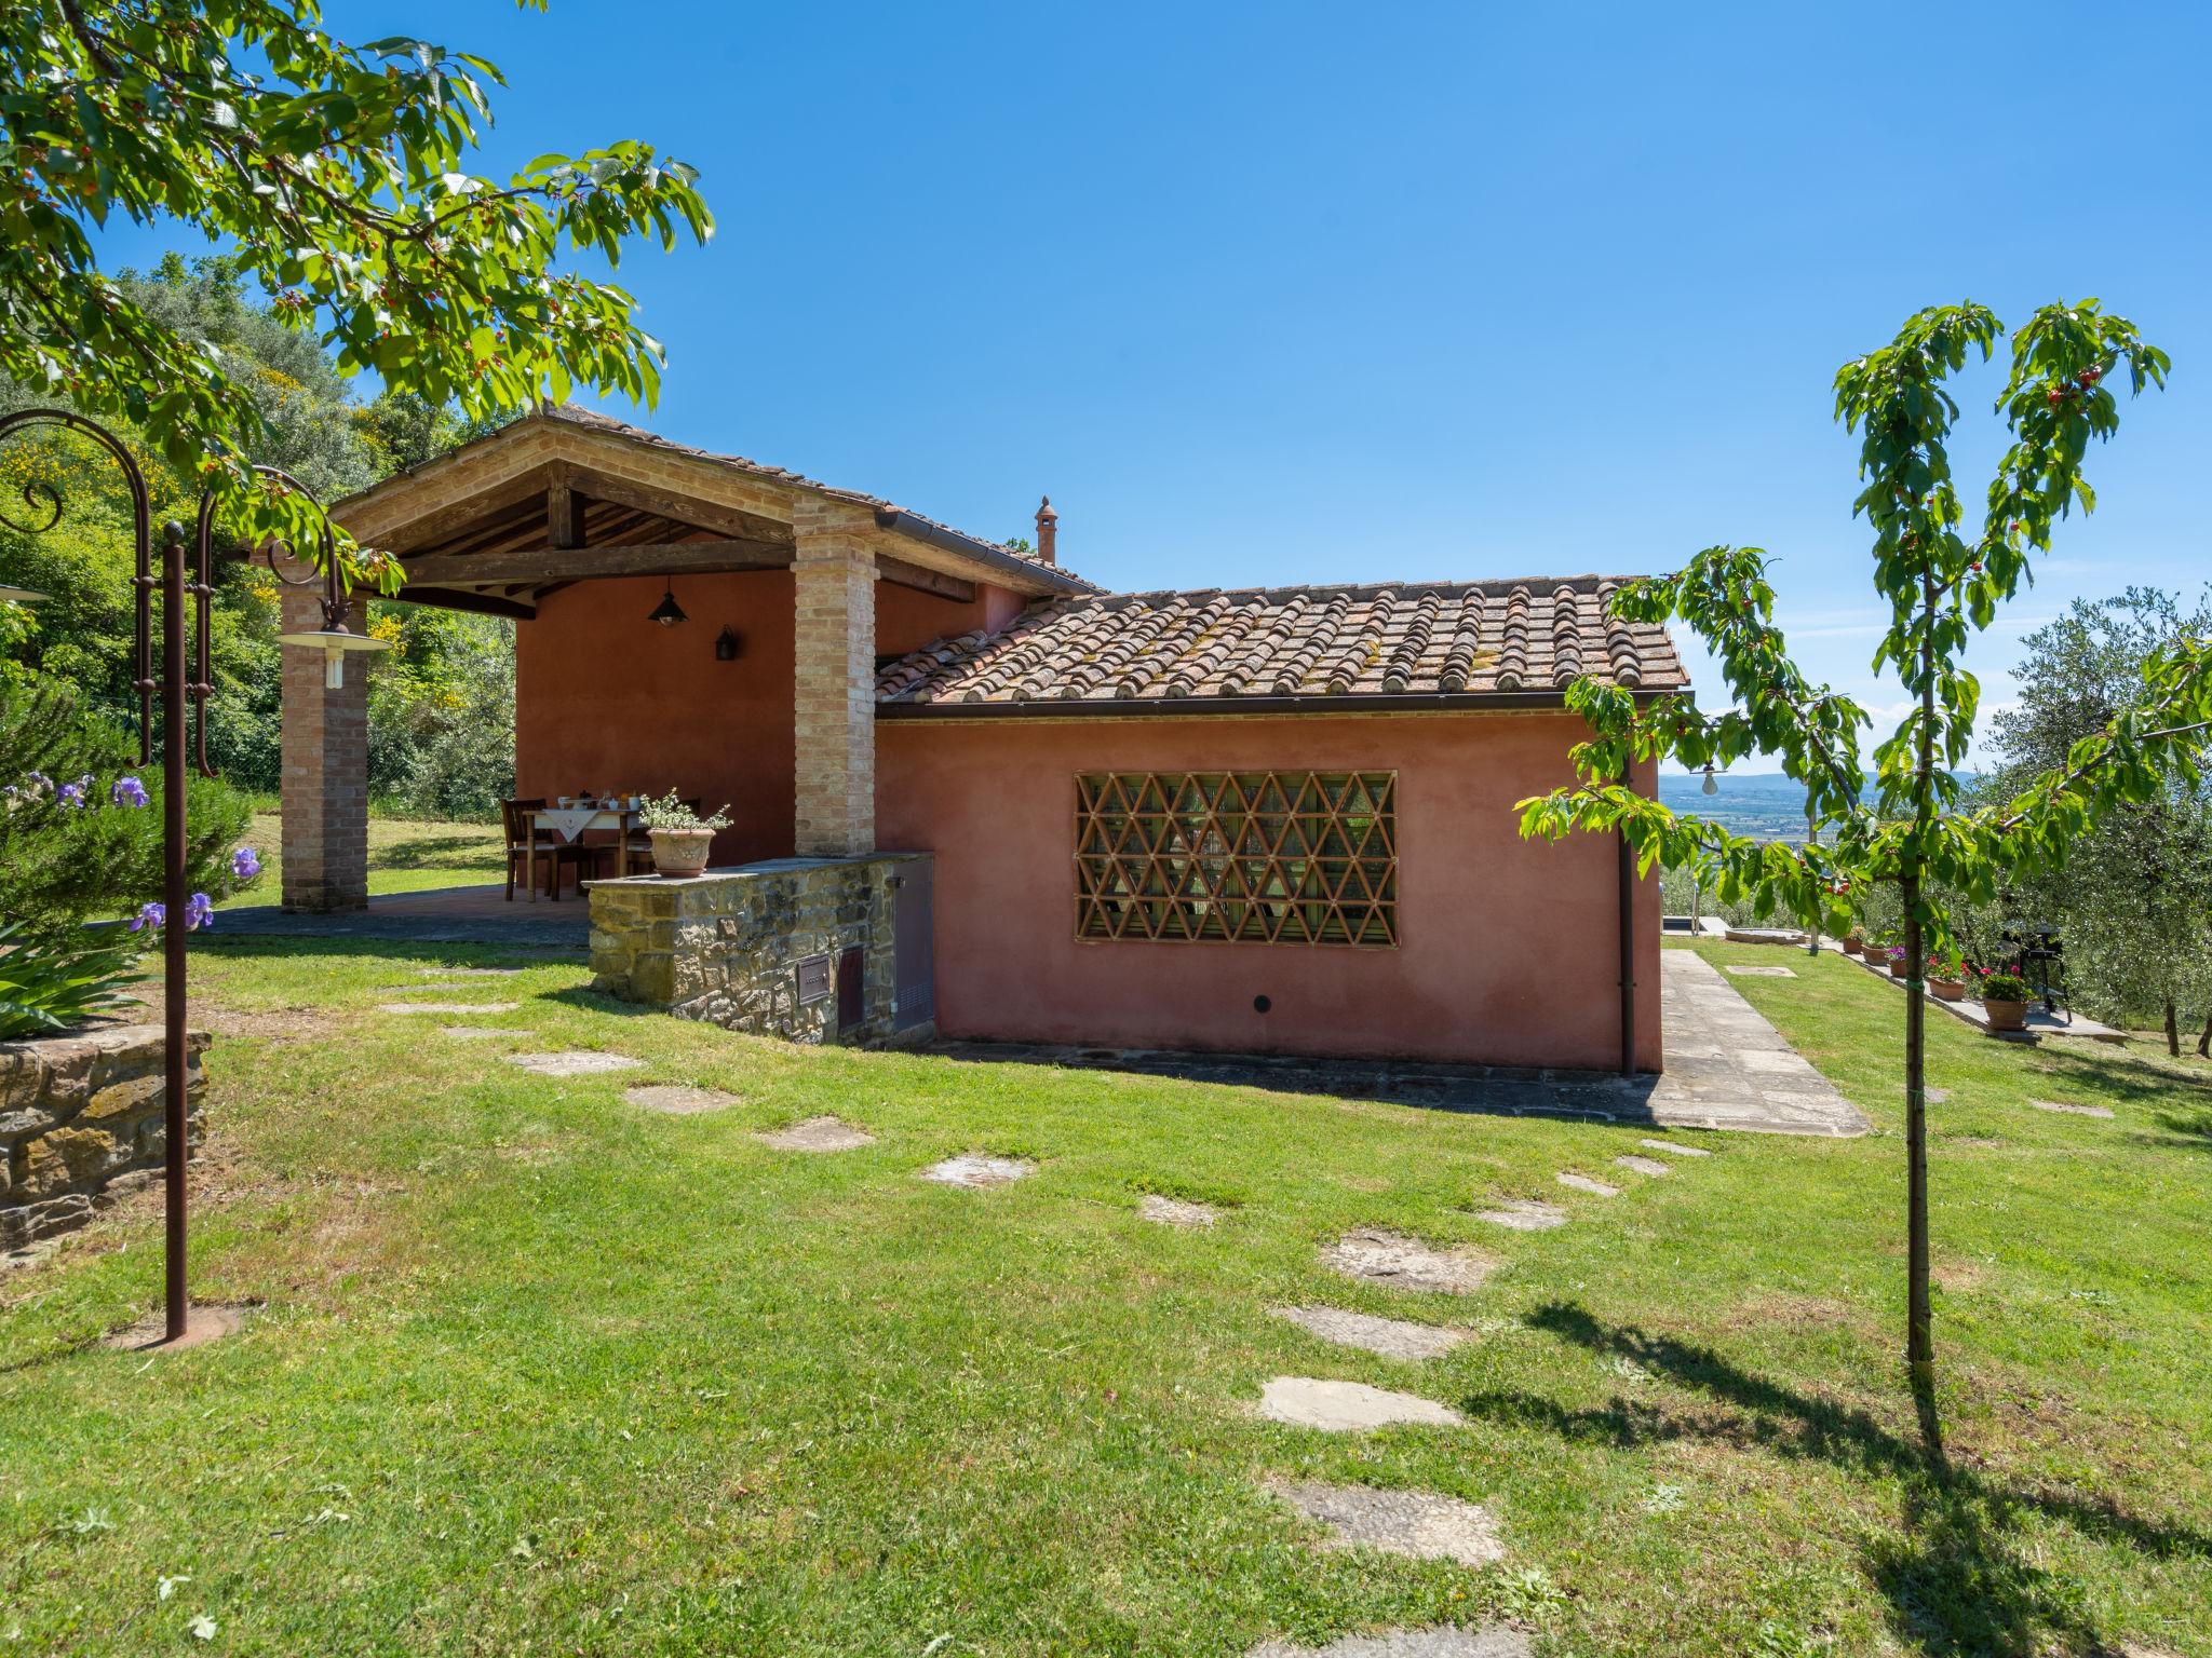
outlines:
M2141 1519L2101 1492L2024 1488L1955 1466L1944 1452L1931 1393L1916 1391L1920 1433L1911 1437L1856 1406L1743 1371L1717 1349L1632 1324L1604 1324L1582 1307L1551 1302L1531 1313L1528 1324L1590 1353L1632 1360L1705 1395L1705 1408L1615 1399L1597 1410L1568 1410L1511 1391L1469 1397L1460 1406L1467 1415L1617 1450L1703 1439L1896 1479L1905 1494L1902 1528L1865 1547L1865 1567L1889 1601L1893 1634L1918 1651L1944 1658L2117 1651L2095 1629L2073 1585L2031 1559L2020 1536L2031 1519L2059 1521L2097 1543L2161 1561L2212 1561L2205 1532Z

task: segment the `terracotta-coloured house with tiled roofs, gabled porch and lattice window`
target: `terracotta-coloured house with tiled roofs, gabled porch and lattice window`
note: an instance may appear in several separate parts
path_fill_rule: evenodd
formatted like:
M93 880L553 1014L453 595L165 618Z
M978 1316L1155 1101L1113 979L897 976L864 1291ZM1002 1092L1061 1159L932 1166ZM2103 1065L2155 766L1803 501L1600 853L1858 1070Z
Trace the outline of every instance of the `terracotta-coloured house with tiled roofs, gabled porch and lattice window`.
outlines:
M1661 628L1608 619L1613 579L1108 592L1057 564L1048 506L1020 553L553 407L338 517L403 557L407 599L515 619L520 794L730 800L730 884L699 889L721 937L792 926L748 875L876 869L830 909L880 900L900 940L854 922L836 988L891 1026L1661 1068L1657 882L1604 838L1524 842L1513 811L1571 776L1575 674L1686 683ZM650 619L664 597L681 626ZM356 906L358 676L288 663L285 701L285 902ZM595 948L706 937L684 904L708 900L668 886L595 884ZM706 997L677 957L646 999ZM686 1010L785 999L714 973Z

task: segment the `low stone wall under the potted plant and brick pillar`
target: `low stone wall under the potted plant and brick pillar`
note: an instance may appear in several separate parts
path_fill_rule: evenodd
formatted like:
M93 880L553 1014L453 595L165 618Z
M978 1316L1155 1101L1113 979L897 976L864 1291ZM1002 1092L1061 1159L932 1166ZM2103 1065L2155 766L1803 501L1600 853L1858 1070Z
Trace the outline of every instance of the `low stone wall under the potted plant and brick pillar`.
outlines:
M927 853L776 858L697 880L591 882L595 986L684 1019L790 1041L874 1043L894 1035L896 882ZM860 951L860 1019L838 1032L836 964ZM801 964L827 957L810 999ZM914 1035L914 1032L902 1032Z

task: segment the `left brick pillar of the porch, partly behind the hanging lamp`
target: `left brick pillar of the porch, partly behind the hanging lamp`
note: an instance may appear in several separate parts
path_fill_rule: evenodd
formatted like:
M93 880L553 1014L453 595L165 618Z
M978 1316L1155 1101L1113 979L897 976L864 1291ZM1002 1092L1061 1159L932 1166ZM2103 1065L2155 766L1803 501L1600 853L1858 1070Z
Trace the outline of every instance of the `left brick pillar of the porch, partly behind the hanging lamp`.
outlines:
M307 575L288 566L285 575ZM323 626L323 584L283 590L283 630ZM356 623L358 626L358 623ZM283 646L283 906L369 904L369 668L354 654L345 688L323 685L323 652Z

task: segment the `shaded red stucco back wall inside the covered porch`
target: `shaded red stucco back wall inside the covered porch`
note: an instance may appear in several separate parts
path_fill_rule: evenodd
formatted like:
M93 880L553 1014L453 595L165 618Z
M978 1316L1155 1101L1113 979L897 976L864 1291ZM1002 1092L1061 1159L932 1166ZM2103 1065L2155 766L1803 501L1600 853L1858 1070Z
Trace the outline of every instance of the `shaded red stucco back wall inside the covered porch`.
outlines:
M790 570L675 579L690 621L646 621L659 577L580 581L515 623L515 789L730 802L714 862L792 851ZM723 626L737 661L714 661Z

